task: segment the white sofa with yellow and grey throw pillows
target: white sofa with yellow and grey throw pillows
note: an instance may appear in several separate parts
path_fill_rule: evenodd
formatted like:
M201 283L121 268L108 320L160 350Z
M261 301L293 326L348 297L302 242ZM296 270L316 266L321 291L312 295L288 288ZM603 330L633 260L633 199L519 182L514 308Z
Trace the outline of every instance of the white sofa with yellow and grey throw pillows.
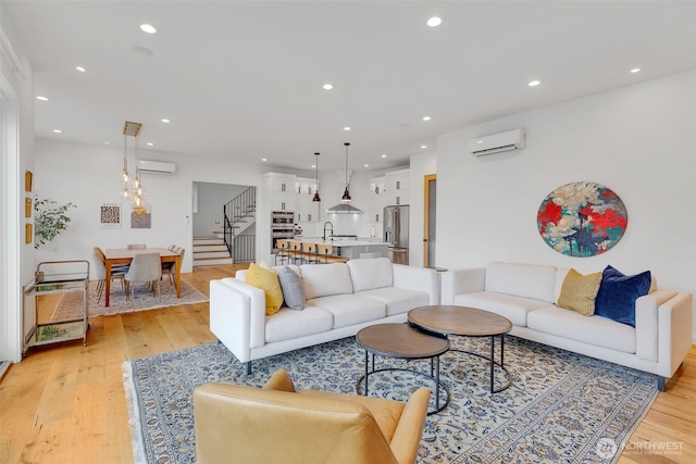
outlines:
M386 258L290 265L306 293L301 311L265 315L263 290L235 278L210 283L210 329L251 373L251 361L356 335L363 327L403 323L409 310L438 302L437 273Z

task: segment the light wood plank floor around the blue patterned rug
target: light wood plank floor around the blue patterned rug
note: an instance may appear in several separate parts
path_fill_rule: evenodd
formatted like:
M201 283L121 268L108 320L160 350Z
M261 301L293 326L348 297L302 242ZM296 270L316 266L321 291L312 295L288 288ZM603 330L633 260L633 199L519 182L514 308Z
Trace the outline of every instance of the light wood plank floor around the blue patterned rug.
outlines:
M183 277L208 294L235 267ZM32 348L0 381L0 463L132 463L124 361L215 341L208 303L94 317L80 341ZM659 393L620 463L696 462L696 349ZM646 450L646 448L651 449ZM671 454L655 451L670 448Z

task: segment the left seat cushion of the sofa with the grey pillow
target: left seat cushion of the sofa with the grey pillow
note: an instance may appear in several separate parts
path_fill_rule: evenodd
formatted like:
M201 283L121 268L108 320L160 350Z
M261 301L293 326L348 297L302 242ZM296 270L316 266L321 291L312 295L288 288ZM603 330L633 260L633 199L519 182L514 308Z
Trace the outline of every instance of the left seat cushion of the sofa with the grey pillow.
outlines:
M265 342L291 340L313 334L321 334L334 325L334 316L321 308L306 305L302 311L283 308L265 318Z

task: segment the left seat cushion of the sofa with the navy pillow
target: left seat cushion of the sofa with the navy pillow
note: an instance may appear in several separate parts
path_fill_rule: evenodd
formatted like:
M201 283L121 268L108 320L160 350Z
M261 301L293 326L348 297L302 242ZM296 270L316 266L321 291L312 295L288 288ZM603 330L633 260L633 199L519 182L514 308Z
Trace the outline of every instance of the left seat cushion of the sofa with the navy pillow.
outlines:
M493 291L460 293L455 297L453 304L490 311L492 313L507 317L512 325L519 327L526 326L527 313L549 305L549 303L545 301L513 297L511 294L496 293Z

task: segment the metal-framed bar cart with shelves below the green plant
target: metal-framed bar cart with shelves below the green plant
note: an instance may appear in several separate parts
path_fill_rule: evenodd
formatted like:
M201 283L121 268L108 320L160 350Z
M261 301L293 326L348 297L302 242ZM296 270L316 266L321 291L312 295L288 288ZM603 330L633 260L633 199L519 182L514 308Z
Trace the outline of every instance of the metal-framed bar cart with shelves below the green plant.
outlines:
M39 299L55 293L82 293L82 299L71 298L71 306L64 317L39 321ZM36 266L34 279L23 287L22 313L34 311L34 327L24 338L23 354L30 347L60 341L83 339L87 346L87 308L89 296L89 261L44 261ZM26 317L24 317L26 321Z

